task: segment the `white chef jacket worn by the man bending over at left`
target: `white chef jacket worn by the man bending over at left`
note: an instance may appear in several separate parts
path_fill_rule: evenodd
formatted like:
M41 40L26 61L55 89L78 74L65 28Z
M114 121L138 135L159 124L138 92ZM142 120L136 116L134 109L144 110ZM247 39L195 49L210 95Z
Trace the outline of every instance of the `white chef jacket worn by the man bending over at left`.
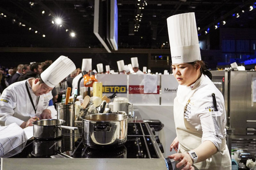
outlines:
M33 79L29 78L28 80ZM52 99L52 92L36 96L28 80L13 83L4 89L0 97L0 125L7 126L11 123L17 123L19 126L28 121L31 117L40 116L44 109L49 109L52 112L52 117L56 115L54 106L49 106L49 101ZM37 107L35 110L30 102L25 83L28 84L28 89L32 100ZM38 102L37 102L38 101Z

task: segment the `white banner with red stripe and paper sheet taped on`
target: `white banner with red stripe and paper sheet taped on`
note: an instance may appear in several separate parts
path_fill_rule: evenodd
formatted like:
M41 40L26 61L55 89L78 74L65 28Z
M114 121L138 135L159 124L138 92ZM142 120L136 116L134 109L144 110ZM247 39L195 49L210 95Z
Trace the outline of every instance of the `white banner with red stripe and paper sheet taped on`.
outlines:
M160 75L129 75L129 101L133 104L159 105L159 89Z

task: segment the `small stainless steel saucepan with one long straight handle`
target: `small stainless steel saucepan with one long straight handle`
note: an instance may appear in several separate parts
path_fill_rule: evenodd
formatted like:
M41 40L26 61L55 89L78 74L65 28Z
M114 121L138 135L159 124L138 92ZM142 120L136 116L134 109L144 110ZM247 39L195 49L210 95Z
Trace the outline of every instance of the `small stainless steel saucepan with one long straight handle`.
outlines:
M76 127L61 126L65 121L62 119L43 119L32 122L33 136L39 140L57 139L62 136L61 129L77 130Z

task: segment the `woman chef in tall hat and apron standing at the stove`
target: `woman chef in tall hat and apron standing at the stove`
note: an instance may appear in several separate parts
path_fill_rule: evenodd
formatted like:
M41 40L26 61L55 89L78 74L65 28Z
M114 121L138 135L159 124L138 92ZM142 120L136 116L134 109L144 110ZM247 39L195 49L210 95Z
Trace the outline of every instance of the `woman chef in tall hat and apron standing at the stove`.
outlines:
M173 15L167 26L172 71L179 83L173 106L177 137L170 146L178 153L169 157L184 170L230 170L224 99L201 61L195 13Z

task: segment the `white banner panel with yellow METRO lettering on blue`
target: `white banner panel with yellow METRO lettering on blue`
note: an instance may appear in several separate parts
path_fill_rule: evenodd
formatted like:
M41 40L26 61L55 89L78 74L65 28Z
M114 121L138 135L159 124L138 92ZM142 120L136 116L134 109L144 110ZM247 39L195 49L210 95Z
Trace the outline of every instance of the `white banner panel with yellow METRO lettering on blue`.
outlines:
M126 74L97 74L97 80L102 82L102 95L116 93L116 97L127 97Z

